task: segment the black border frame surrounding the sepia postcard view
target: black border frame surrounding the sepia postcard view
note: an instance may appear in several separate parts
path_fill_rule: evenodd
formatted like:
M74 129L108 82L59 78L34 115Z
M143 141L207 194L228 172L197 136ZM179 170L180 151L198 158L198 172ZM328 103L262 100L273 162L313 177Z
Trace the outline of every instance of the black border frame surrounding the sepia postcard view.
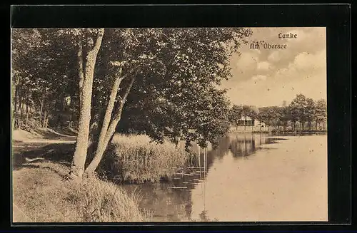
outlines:
M4 16L4 15L3 15ZM6 19L7 21L7 19ZM328 76L328 218L329 225L351 224L351 6L348 4L298 4L298 5L111 5L111 6L12 6L11 27L193 27L193 26L326 26L327 76ZM8 28L9 30L9 28ZM10 31L8 31L10 34ZM8 37L9 39L9 37ZM10 42L10 40L9 40ZM9 45L10 43L8 43ZM9 49L9 48L8 48ZM10 51L10 49L8 50ZM9 53L8 53L9 54ZM9 63L7 63L9 64ZM9 66L10 67L10 66ZM10 76L7 76L10 77ZM4 78L7 87L10 79ZM10 90L10 89L9 89ZM9 91L8 90L8 91ZM10 93L3 98L8 111L4 128L0 128L1 141L5 142L4 155L11 151ZM4 109L3 108L3 109ZM7 124L6 124L7 123ZM1 153L2 154L2 153ZM1 157L1 168L11 174L9 158ZM6 176L2 176L6 183ZM10 177L9 177L10 178ZM9 186L11 188L11 184ZM9 190L10 191L10 190ZM6 193L5 197L9 197ZM3 203L4 202L4 203ZM11 203L1 200L1 209L10 210ZM1 218L1 224L11 219ZM145 223L116 223L115 226L143 226ZM178 223L155 223L169 226ZM208 223L212 227L224 227L224 222ZM204 225L208 225L204 224ZM293 224L308 228L321 222L251 222L241 223L241 228L252 224L270 228L292 229ZM21 226L24 224L16 224ZM28 225L28 224L26 224ZM51 226L53 224L36 224ZM56 226L59 224L56 224ZM67 224L66 224L67 225ZM81 224L76 224L81 225ZM101 226L103 224L86 224ZM108 224L106 224L108 225ZM198 224L188 224L190 229ZM226 225L237 226L232 222ZM264 226L263 226L264 225ZM14 225L13 225L14 226ZM182 225L183 226L183 225ZM187 224L186 224L187 226ZM196 226L196 227L195 227ZM50 227L50 228L52 228ZM28 227L16 227L29 229ZM161 228L161 227L160 227ZM48 227L45 229L49 230ZM105 231L106 228L98 228ZM178 229L178 226L175 227ZM213 228L211 228L213 229ZM77 229L79 230L79 229Z

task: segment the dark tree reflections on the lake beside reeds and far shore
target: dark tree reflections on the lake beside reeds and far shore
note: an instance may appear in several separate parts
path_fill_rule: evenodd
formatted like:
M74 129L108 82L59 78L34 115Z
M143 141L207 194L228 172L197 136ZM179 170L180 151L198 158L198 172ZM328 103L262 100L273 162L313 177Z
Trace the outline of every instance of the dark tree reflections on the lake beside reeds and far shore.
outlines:
M203 167L203 163L206 162L206 173L211 169L215 160L222 160L224 156L227 156L228 152L231 152L233 157L248 158L256 150L260 149L260 145L276 143L276 138L266 138L267 135L227 135L221 138L219 145L214 150L206 150L206 158L204 158L204 150L201 148L200 159L198 157L193 158L192 168L185 170L185 173L191 175L183 175L177 173L169 183L159 184L143 184L143 185L124 185L123 187L129 191L129 193L135 193L136 188L139 187L141 196L139 205L148 210L153 217L154 222L176 222L176 221L203 221L210 222L216 221L216 219L209 219L209 214L206 211L206 175L202 174L202 170L198 170L198 167ZM198 148L197 148L198 149ZM196 155L197 155L196 154ZM199 164L198 162L201 162ZM202 212L199 216L196 215L195 219L191 219L192 215L192 200L191 191L198 186L201 192L200 204L202 204ZM201 187L199 187L201 186ZM186 189L172 189L171 187L187 187Z

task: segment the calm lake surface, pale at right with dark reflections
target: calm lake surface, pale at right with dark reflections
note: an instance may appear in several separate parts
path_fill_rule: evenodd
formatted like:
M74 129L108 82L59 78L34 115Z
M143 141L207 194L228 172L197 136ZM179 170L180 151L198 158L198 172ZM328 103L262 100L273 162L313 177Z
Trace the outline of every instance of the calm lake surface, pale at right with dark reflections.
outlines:
M208 147L206 172L123 187L153 222L327 221L327 135L232 133Z

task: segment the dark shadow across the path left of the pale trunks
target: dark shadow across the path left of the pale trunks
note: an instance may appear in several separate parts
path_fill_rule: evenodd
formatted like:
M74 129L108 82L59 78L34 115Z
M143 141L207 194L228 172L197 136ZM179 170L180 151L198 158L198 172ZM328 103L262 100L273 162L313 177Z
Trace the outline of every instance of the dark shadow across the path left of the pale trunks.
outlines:
M69 165L74 153L74 143L58 143L44 145L43 147L27 147L26 150L20 152L14 151L13 155L13 169L19 170L21 167L28 166L31 161L26 161L26 158L32 160L37 157L43 158L42 161L57 162L64 165ZM39 162L41 160L35 160Z

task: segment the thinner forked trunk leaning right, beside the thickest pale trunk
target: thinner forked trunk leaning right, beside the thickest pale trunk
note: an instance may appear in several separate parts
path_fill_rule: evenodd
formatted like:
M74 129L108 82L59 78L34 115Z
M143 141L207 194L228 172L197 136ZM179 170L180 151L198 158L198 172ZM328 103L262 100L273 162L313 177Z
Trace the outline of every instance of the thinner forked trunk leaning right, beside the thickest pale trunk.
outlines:
M106 147L108 146L108 143L113 138L115 129L116 129L116 125L118 125L119 120L121 119L121 113L123 111L124 103L126 101L126 98L129 95L131 87L133 86L135 78L136 78L136 74L134 74L134 76L132 76L129 87L126 89L124 96L120 100L119 110L114 115L114 118L109 125L109 121L111 120L111 112L114 107L114 101L115 101L115 96L116 96L116 92L117 92L117 88L112 89L111 96L109 98L108 107L106 109L107 119L104 118L104 123L101 128L101 134L99 135L99 143L98 143L98 147L96 149L96 155L94 155L94 159L91 161L89 166L86 168L87 174L93 173L96 170L96 167L98 167L99 162L101 162L101 157L103 157ZM116 82L114 83L114 86L116 86L116 85L119 86L120 82L121 81L116 80ZM114 97L114 99L112 99L113 97ZM106 127L108 127L108 128L106 129Z

